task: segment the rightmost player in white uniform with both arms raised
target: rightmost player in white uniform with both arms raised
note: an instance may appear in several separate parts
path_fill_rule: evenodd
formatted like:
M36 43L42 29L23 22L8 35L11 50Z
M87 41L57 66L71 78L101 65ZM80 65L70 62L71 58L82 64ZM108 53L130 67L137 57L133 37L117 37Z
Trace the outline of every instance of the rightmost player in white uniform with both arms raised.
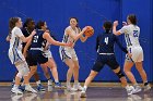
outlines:
M138 86L138 83L131 73L131 67L133 64L136 64L136 68L138 70L144 85L144 90L151 89L149 83L146 73L143 70L143 50L142 47L139 43L139 36L140 36L140 27L137 25L137 16L134 14L130 14L127 16L127 26L123 26L121 29L116 30L116 27L118 26L118 21L114 22L114 28L113 31L115 35L121 35L125 34L125 40L127 42L127 49L132 54L131 58L126 55L125 61L125 73L130 79L130 81L133 84L133 87L136 89L134 93L141 91L140 86Z

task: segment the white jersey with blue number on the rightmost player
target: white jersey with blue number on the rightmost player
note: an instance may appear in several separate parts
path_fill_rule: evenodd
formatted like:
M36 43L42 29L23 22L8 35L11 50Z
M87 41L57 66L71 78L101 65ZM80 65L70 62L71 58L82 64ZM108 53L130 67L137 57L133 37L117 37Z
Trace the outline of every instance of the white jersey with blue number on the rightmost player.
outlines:
M130 24L123 26L119 31L121 34L125 34L127 47L140 46L139 43L140 28L138 26Z

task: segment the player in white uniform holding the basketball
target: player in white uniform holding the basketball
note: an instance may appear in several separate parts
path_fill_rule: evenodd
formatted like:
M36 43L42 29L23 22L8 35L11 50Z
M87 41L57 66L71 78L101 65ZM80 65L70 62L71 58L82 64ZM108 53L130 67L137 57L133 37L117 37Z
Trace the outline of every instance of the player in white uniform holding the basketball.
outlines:
M61 60L68 65L69 70L67 72L67 90L81 90L82 87L79 84L79 61L75 54L74 46L78 39L81 39L84 42L87 37L83 37L83 33L86 30L86 27L81 29L78 27L78 18L71 17L70 18L70 26L64 29L64 35L62 42L69 43L73 42L73 47L60 47L60 58ZM70 81L71 77L74 77L74 85L71 88Z

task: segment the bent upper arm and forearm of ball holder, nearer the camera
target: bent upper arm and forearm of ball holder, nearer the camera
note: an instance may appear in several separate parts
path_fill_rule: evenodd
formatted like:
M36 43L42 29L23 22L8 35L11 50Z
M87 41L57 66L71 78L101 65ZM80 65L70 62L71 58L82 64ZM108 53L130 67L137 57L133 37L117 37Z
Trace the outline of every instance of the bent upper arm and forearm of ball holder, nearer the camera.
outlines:
M84 34L85 30L86 30L86 27L84 27L82 29L82 31L80 31L78 35L74 35L71 33L70 29L66 29L66 34L68 34L70 37L72 37L74 39L74 41L76 41Z

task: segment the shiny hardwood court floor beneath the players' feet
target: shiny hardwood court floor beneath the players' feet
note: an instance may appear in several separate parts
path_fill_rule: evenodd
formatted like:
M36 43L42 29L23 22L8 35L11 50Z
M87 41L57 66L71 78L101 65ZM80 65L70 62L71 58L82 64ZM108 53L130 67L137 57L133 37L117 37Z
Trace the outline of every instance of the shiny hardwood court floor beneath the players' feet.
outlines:
M80 98L80 91L68 92L66 89L45 88L44 92L24 92L16 96L10 92L10 86L1 86L0 101L153 101L153 88L128 97L121 87L89 87L87 98Z

